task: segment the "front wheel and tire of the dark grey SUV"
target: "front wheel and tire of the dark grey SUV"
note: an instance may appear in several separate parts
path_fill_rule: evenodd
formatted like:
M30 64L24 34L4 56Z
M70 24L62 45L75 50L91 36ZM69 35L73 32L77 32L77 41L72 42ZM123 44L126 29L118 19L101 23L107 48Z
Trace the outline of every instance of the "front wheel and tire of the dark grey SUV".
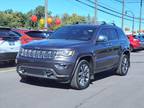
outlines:
M90 84L90 64L86 60L81 60L75 70L71 81L71 87L77 90L85 89Z

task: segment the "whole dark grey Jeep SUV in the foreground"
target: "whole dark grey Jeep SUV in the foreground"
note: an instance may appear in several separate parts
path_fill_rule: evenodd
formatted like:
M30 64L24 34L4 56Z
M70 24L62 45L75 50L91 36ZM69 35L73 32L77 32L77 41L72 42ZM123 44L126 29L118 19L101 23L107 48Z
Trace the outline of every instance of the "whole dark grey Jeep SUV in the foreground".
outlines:
M17 72L22 79L47 78L85 89L95 73L115 70L121 76L127 74L129 44L127 36L114 25L64 26L48 40L22 46Z

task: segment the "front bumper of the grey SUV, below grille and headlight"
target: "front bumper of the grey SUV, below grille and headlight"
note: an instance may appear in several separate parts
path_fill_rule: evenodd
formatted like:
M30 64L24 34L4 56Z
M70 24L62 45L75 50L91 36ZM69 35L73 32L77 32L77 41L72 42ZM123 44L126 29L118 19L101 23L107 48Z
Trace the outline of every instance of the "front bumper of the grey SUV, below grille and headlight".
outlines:
M74 63L62 61L17 60L17 72L23 76L69 82Z

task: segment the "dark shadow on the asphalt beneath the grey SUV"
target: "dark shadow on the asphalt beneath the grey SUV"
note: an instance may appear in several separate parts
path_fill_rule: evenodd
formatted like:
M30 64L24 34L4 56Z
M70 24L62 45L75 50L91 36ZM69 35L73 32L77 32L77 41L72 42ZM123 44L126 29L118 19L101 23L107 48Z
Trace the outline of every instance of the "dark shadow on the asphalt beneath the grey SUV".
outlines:
M97 73L97 74L95 74L95 78L91 82L91 84L93 84L93 82L95 82L95 81L102 80L102 79L105 79L107 77L111 77L113 75L116 75L113 71L105 71L105 72ZM48 79L30 78L27 80L21 79L20 82L25 83L25 84L34 85L34 86L40 86L40 87L49 87L49 88L58 88L58 89L72 89L70 87L70 84L58 83L54 80L48 80Z

